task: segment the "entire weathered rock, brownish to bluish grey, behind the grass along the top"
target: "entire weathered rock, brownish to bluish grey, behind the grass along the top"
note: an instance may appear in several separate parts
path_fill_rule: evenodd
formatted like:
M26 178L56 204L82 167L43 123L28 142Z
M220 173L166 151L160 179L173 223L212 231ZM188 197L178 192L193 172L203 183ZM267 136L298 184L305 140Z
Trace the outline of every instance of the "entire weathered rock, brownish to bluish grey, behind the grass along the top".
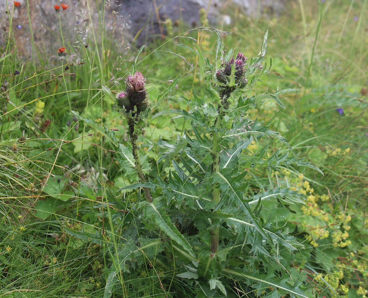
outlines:
M4 34L0 34L0 47L6 44L6 38L15 37L15 46L24 58L35 56L35 61L49 60L57 56L57 50L63 46L60 35L59 16L63 31L64 46L69 61L76 60L78 53L84 49L85 42L81 40L86 35L93 39L93 32L99 32L99 14L101 7L92 0L28 0L29 16L26 0L18 0L21 5L14 10L12 24L10 19L13 11L13 1L0 0L0 26ZM279 13L286 0L233 0L233 3L243 7L246 13L253 17L261 15L265 10ZM6 6L8 3L8 7ZM101 3L104 3L102 1ZM67 10L56 12L54 5L67 3ZM99 1L100 3L100 1ZM124 51L132 40L139 46L148 44L154 38L167 35L166 19L171 19L174 26L181 20L190 28L202 26L199 21L199 10L207 9L209 0L106 0L105 30L113 33L116 51ZM212 0L209 6L208 19L210 25L217 26L219 21L231 24L231 18L222 15L224 3L229 1ZM258 6L260 3L260 6ZM7 13L9 11L9 13ZM30 26L31 24L31 26ZM77 27L77 30L75 30ZM32 53L32 35L33 48ZM86 31L84 33L84 31ZM100 40L100 36L96 36ZM58 56L57 56L58 57ZM56 61L60 59L56 57Z

